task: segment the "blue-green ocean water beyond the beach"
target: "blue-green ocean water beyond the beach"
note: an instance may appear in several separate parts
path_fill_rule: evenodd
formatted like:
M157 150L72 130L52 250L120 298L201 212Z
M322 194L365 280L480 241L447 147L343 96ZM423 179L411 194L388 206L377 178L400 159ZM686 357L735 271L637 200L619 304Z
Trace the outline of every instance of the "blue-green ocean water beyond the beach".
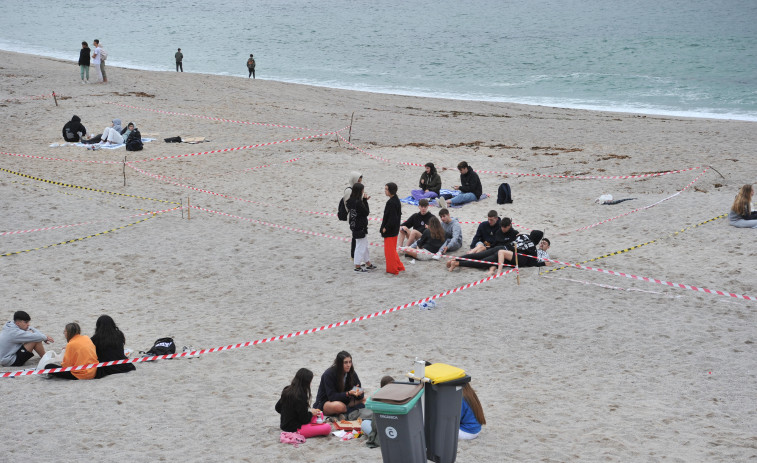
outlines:
M757 121L755 0L3 0L0 49L370 92ZM0 65L1 66L1 65ZM72 70L72 75L78 71ZM74 77L72 77L74 78Z

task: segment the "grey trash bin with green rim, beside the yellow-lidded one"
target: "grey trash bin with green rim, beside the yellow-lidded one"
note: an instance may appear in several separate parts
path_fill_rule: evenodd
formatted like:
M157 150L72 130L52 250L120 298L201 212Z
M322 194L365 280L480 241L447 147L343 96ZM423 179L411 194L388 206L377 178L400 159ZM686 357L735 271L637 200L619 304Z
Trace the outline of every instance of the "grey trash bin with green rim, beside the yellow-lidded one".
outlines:
M402 383L393 383L395 387L400 384ZM406 384L411 389L417 386ZM423 388L419 389L409 402L400 405L376 401L373 397L366 401L366 408L373 410L372 424L377 426L384 463L426 462L426 439L420 401L423 391Z

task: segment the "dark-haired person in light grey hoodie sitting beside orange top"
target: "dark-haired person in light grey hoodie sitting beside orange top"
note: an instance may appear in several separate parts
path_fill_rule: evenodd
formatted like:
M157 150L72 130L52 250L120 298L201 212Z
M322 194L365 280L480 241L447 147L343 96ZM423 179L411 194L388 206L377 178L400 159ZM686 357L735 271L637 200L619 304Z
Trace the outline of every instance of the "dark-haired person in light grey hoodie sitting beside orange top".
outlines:
M0 365L20 367L34 357L34 352L40 357L45 355L43 343L55 342L30 326L30 322L29 314L19 310L13 314L13 320L3 326L0 331Z

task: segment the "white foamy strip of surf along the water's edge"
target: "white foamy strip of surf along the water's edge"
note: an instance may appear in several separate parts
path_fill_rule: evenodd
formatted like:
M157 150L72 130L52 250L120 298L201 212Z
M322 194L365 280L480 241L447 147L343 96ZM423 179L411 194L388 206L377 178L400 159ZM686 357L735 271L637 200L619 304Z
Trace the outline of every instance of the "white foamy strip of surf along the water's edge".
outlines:
M43 53L35 54L31 52L15 51L15 50L7 50L7 49L0 49L0 51L5 52L5 53L14 53L14 54L25 55L25 56L33 56L37 58L50 59L50 60L63 62L63 63L70 63L73 61L71 59L67 59L62 56L56 56L54 54L53 55L50 55L50 54L46 55ZM170 69L170 67L167 67L166 69L158 69L158 68L151 68L149 66L139 66L139 65L129 65L129 64L118 64L118 65L113 65L113 67L121 68L121 69L136 70L136 71L148 71L148 72L167 72L167 73L175 72L175 70ZM246 77L244 76L244 73L240 73L240 74L204 73L204 72L193 72L193 71L187 71L186 73L204 75L204 76L237 77L237 78L246 79ZM664 108L654 109L654 108L643 108L643 107L633 107L633 106L612 107L612 106L605 106L602 104L590 104L590 103L563 104L560 101L557 101L557 102L549 101L549 99L546 97L532 97L530 99L521 99L521 100L518 100L517 98L511 98L511 99L497 98L494 96L490 96L490 97L468 96L466 97L466 95L459 95L459 94L452 94L452 95L433 94L430 92L423 92L423 91L412 92L412 91L406 91L402 89L391 89L391 88L381 88L381 87L366 89L366 88L354 88L354 87L350 87L349 85L329 86L329 85L320 84L317 82L309 82L307 80L287 79L287 78L268 79L265 77L261 77L258 80L263 80L263 81L267 80L271 82L294 84L294 85L305 85L305 86L310 86L310 87L333 89L333 90L346 90L346 91L354 91L354 92L373 93L377 95L395 95L395 96L407 96L407 97L417 97L417 98L433 98L433 99L450 100L450 101L470 101L470 102L479 102L479 103L517 104L517 105L536 106L536 107L544 107L544 108L576 109L576 110L582 110L582 111L611 112L611 113L631 114L631 115L757 122L757 114L744 115L744 114L734 114L734 113L714 113L714 112L692 111L692 110L682 110L682 109L679 109L679 110L664 109ZM537 101L539 99L544 99L545 101L543 103L538 103Z

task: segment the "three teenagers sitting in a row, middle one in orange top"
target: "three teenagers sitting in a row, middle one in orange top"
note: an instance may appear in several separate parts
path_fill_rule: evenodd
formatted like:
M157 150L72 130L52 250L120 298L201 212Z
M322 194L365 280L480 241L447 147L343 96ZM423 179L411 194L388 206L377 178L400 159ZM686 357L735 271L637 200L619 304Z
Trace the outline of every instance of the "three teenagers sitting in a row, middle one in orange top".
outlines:
M23 366L34 357L35 352L45 358L45 344L52 343L54 340L30 326L30 323L29 314L19 310L13 314L13 320L3 326L3 330L0 331L0 365ZM101 315L97 319L95 333L91 338L81 334L78 323L68 323L63 330L63 335L66 337L67 344L61 364L40 365L38 370L42 367L45 369L68 368L127 359L124 353L126 337L109 315ZM122 363L99 368L60 371L49 373L49 375L62 379L95 379L133 370L136 370L133 363Z

